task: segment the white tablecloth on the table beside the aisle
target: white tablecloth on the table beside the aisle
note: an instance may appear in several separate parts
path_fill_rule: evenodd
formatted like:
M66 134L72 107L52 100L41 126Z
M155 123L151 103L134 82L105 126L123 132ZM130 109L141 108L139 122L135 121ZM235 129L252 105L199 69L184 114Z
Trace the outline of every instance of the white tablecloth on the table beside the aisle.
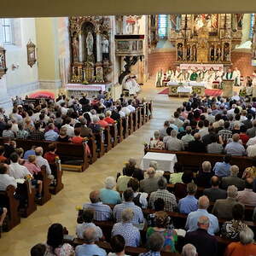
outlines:
M148 152L143 156L141 168L147 170L150 161L157 161L157 169L165 172L174 172L173 167L177 163L176 154L163 154Z

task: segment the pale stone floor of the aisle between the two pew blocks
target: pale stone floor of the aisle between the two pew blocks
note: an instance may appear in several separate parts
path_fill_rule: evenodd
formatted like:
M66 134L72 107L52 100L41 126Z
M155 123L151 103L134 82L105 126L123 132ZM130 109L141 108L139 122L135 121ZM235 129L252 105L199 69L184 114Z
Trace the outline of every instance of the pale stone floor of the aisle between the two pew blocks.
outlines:
M88 201L90 191L102 188L104 178L115 176L130 157L140 162L143 157L143 143L148 142L154 130L160 128L164 121L171 117L180 102L183 102L182 99L169 99L166 95L158 95L157 93L163 89L156 89L154 83L149 82L142 87L139 97L145 96L147 100L154 101L153 119L108 154L96 160L85 172L64 172L64 189L58 195L52 196L44 206L38 207L31 216L22 218L15 229L3 233L0 239L1 256L29 255L33 245L46 241L47 230L53 223L63 224L69 230L69 234L74 235L77 216L75 207Z

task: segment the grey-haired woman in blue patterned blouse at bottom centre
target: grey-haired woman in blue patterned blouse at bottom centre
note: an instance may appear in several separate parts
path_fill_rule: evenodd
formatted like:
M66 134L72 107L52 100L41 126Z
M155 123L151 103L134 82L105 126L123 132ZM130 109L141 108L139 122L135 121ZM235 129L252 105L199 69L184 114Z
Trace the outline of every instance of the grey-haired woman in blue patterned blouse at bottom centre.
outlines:
M141 241L140 231L131 222L133 215L131 208L125 208L122 212L122 222L114 224L111 232L112 236L123 236L127 247L138 247Z

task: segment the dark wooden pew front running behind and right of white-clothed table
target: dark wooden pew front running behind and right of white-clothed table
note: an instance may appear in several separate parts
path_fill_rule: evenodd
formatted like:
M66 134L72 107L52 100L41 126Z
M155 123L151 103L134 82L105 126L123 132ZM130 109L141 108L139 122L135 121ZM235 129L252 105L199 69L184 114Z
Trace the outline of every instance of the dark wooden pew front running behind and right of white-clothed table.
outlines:
M216 162L223 161L224 154L207 154L207 153L193 153L189 151L170 151L160 149L145 148L144 153L155 152L164 154L176 154L177 156L177 169L181 172L185 169L192 169L195 171L201 171L201 164L204 161L211 162L212 166ZM242 172L253 165L253 158L247 156L232 156L231 165L239 167L238 176L241 177Z

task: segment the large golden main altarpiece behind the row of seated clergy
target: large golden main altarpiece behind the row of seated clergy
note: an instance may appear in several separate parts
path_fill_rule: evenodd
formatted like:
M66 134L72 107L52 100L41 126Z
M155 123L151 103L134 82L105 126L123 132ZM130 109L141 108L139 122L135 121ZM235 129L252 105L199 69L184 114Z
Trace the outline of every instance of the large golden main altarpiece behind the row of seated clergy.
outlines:
M176 48L176 64L230 65L231 50L241 44L242 18L241 14L169 15L168 39Z

